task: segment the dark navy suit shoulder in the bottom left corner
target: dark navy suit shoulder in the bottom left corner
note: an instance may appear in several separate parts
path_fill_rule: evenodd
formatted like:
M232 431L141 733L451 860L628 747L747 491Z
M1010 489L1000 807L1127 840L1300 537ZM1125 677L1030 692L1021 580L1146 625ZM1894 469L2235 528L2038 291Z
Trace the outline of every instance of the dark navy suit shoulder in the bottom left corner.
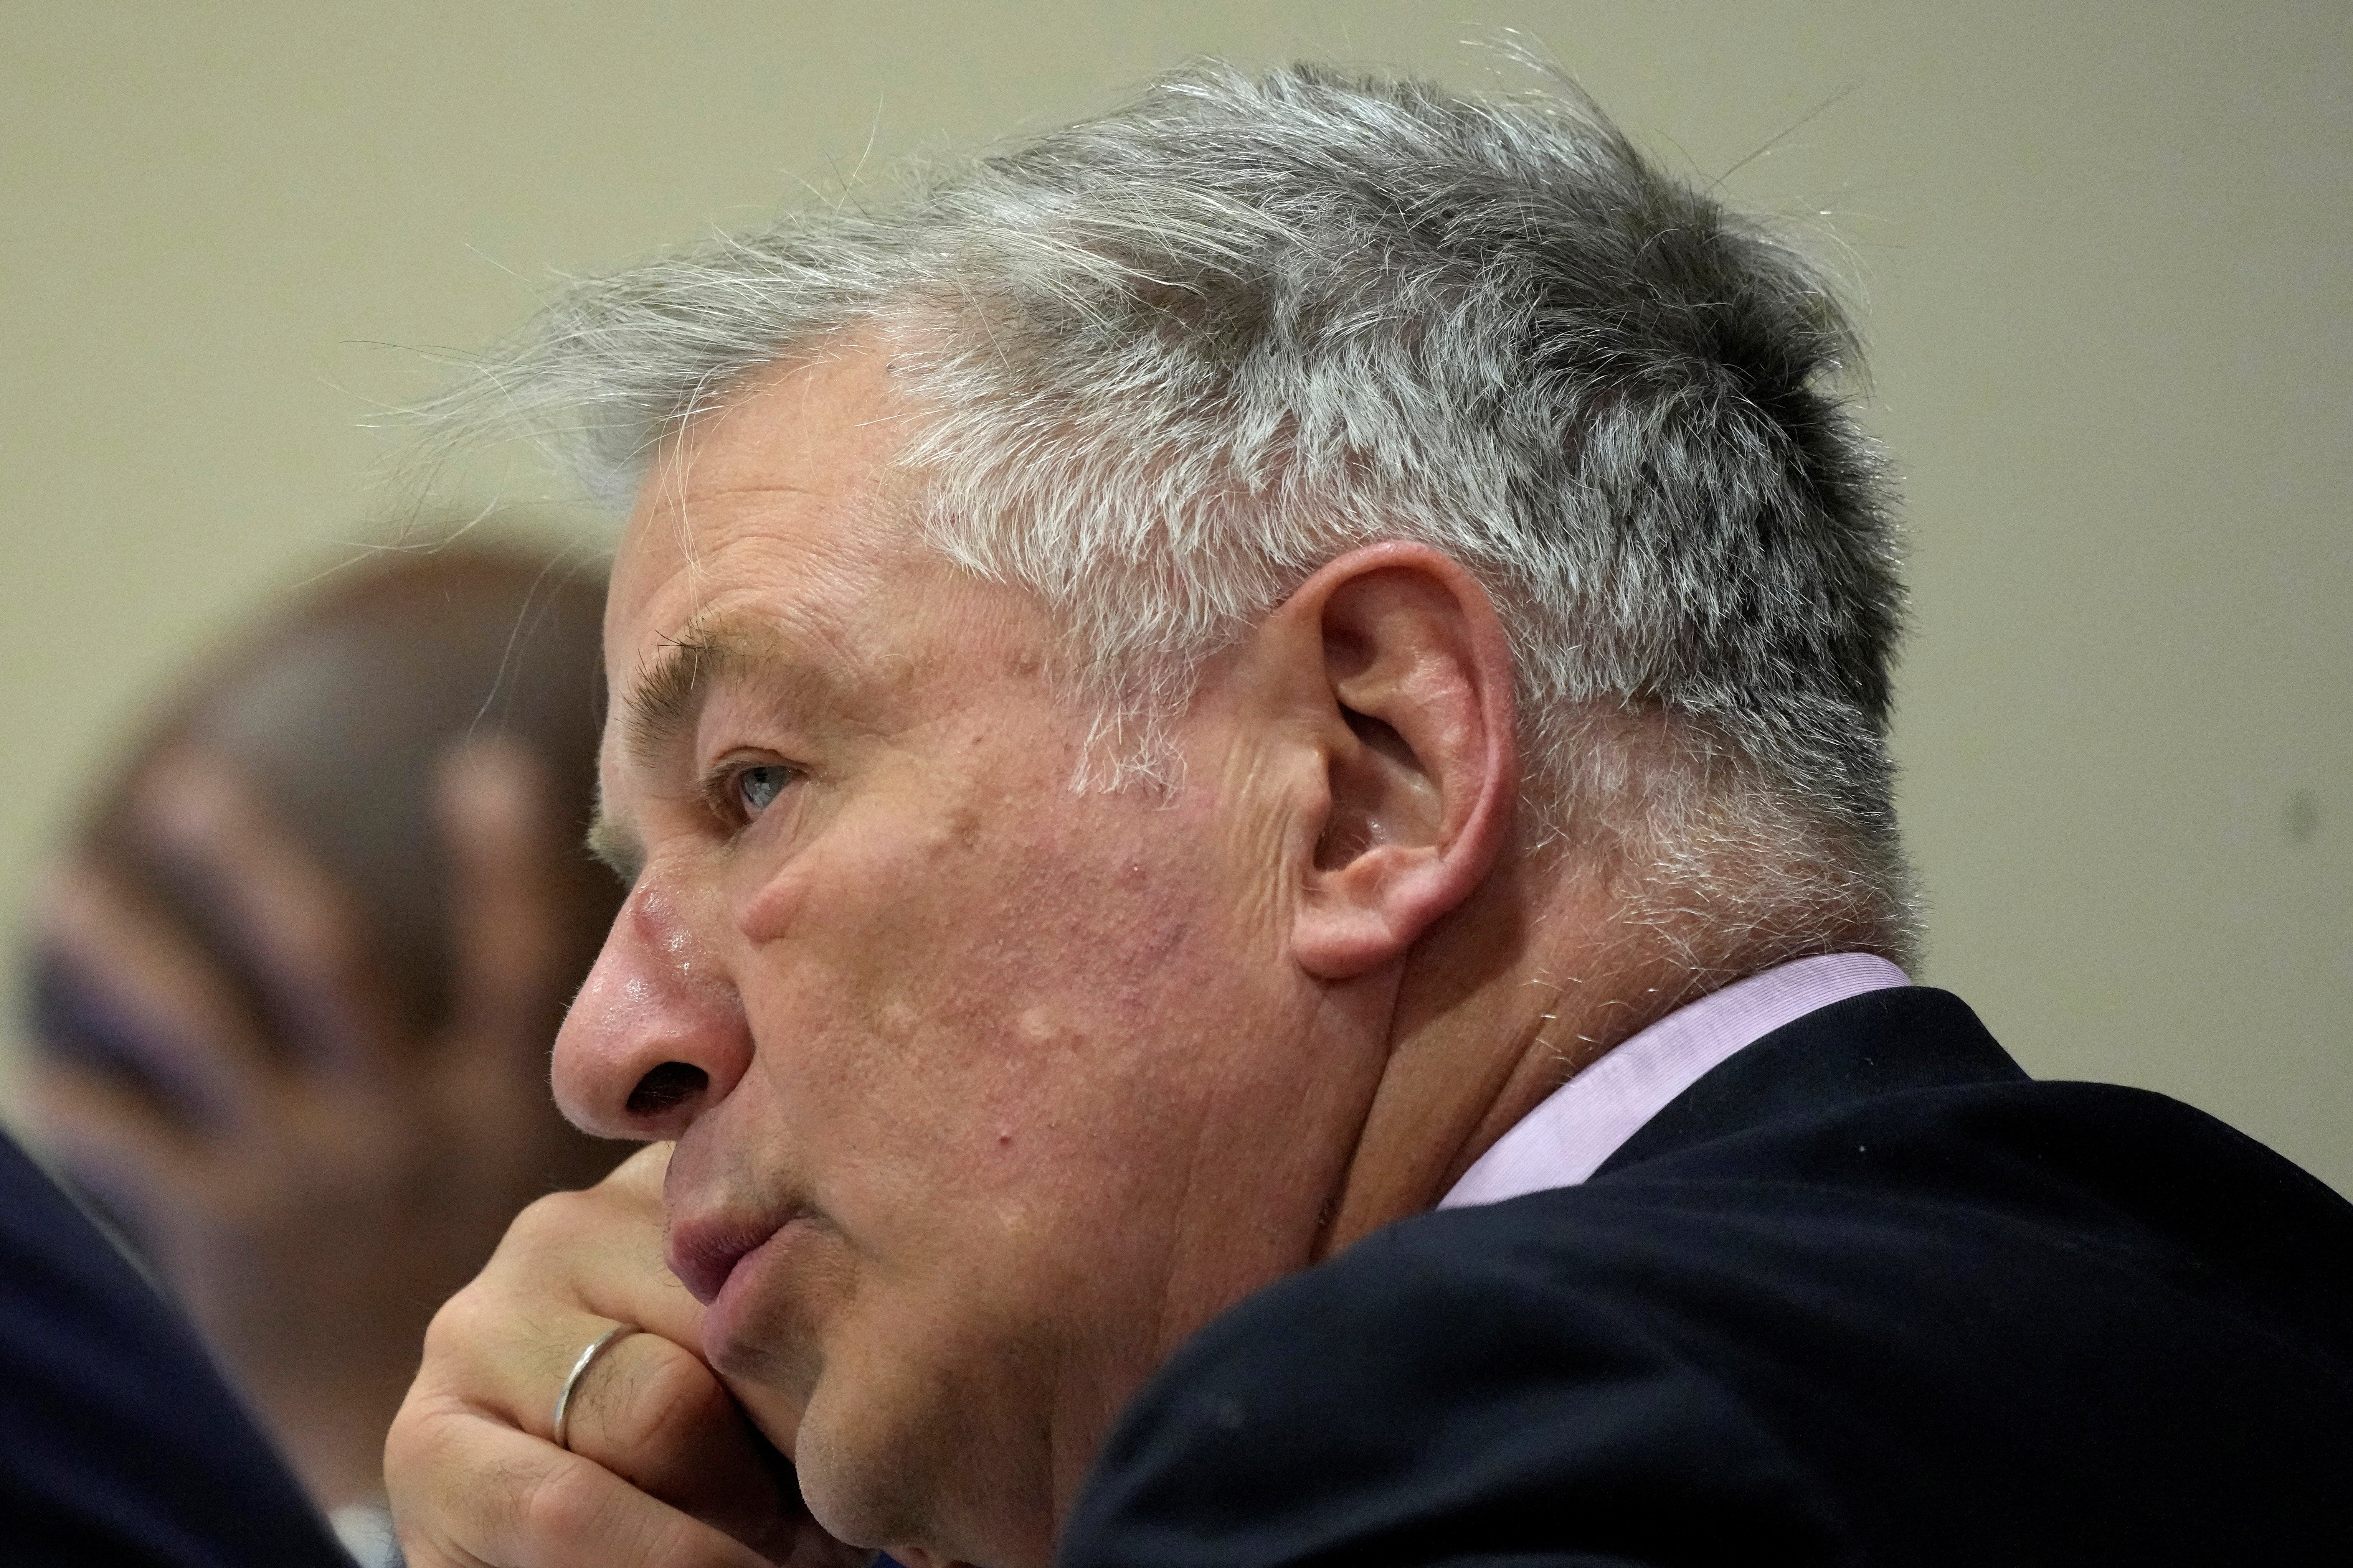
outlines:
M188 1326L5 1135L0 1563L351 1568Z

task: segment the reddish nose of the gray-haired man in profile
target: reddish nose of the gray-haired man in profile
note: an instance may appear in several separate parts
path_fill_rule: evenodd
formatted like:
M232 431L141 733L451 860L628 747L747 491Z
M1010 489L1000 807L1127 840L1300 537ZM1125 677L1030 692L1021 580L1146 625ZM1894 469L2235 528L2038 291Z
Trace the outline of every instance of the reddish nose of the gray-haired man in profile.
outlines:
M598 1138L678 1138L751 1070L711 926L640 877L555 1034L555 1105Z

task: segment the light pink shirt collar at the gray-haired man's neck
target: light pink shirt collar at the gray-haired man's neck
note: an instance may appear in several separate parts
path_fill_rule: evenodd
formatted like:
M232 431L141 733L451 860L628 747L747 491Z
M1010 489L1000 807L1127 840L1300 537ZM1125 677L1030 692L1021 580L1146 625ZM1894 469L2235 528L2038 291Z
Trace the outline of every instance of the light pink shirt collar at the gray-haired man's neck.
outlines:
M1468 1208L1574 1187L1734 1051L1833 1001L1892 985L1911 985L1911 978L1887 959L1831 952L1708 992L1555 1088L1497 1138L1438 1206Z

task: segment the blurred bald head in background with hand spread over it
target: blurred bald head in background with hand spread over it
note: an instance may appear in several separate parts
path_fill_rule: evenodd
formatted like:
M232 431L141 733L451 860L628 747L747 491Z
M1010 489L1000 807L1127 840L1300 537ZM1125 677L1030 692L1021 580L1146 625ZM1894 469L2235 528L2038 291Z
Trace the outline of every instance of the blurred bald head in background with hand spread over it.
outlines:
M433 1307L614 1157L546 1081L619 900L579 851L602 590L471 545L299 590L165 693L35 907L33 1131L329 1509L381 1490Z

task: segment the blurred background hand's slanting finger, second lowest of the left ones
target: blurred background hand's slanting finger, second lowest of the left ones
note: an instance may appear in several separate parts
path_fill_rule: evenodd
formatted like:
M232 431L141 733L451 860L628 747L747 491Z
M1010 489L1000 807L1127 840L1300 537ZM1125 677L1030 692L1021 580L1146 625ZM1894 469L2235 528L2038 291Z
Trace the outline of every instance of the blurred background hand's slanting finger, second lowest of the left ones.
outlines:
M59 872L38 924L45 957L101 1020L111 1056L214 1128L252 1124L268 1053L245 1001L186 933L92 860Z

